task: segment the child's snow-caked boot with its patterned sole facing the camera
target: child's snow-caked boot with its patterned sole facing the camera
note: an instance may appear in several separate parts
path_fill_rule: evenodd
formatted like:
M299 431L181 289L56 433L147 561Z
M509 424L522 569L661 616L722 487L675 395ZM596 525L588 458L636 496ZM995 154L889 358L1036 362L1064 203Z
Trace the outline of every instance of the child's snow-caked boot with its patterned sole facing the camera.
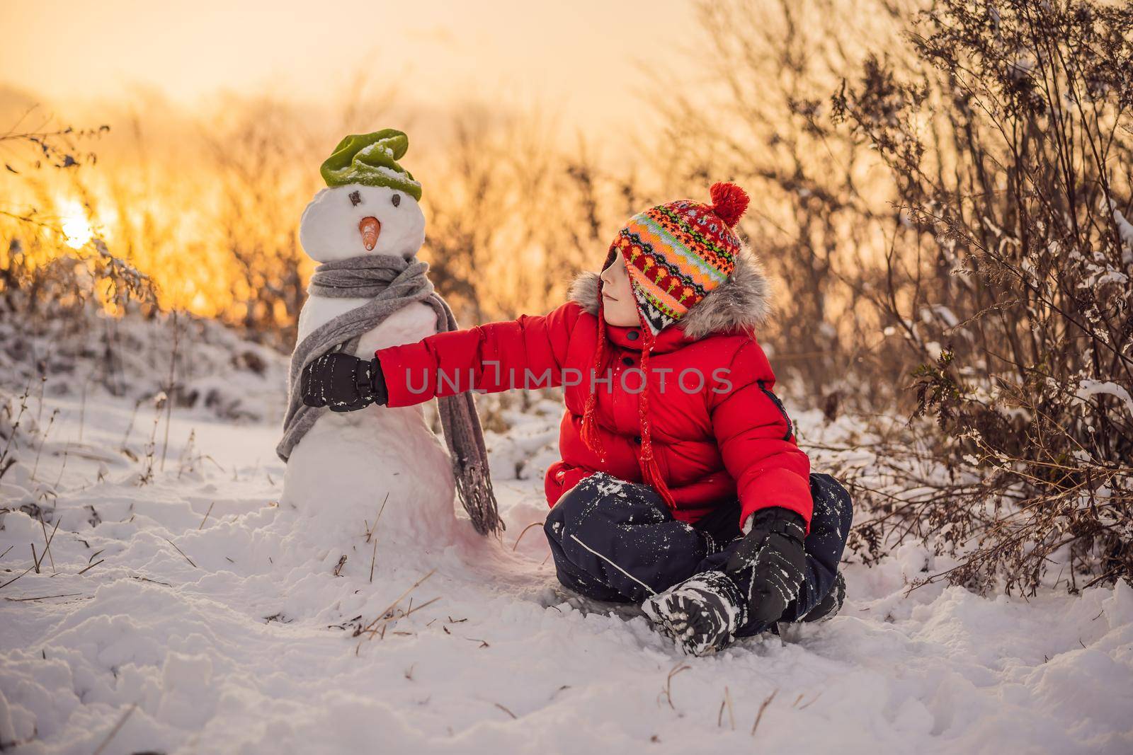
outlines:
M657 593L641 603L641 610L688 655L722 650L747 620L743 593L718 570L701 572Z

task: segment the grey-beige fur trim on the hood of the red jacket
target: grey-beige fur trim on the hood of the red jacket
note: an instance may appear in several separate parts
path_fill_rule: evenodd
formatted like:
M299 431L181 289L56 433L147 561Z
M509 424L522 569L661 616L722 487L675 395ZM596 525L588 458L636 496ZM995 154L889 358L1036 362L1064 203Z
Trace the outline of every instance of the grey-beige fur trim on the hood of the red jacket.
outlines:
M591 315L598 314L598 273L582 271L571 282L569 298ZM755 333L772 312L772 285L763 263L744 249L735 257L731 277L713 289L675 326L699 340L713 333Z

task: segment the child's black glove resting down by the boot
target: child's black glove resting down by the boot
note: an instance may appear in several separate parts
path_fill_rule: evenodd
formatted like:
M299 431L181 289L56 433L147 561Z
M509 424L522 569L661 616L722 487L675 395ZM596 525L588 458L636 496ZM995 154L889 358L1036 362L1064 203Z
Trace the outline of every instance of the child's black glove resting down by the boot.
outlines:
M799 597L807 567L806 535L806 521L790 509L773 506L755 513L751 531L724 567L747 593L748 621L765 626L777 621Z

